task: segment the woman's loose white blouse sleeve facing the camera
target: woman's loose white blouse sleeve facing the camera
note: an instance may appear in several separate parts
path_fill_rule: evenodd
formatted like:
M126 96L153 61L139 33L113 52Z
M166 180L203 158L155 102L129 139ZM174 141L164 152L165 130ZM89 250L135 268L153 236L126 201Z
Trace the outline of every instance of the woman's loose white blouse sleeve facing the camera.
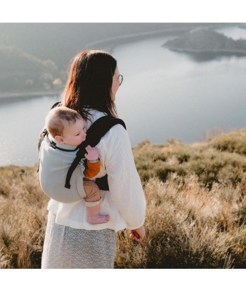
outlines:
M110 129L105 146L105 167L112 202L127 222L128 229L139 228L145 221L145 196L129 136L122 125Z

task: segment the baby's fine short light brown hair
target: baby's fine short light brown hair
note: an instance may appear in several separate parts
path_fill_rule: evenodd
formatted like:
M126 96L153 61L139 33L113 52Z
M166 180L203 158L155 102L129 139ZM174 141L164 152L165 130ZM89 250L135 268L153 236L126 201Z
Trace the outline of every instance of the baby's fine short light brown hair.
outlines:
M48 115L46 115L46 129L52 137L63 136L65 122L75 124L77 119L82 120L82 116L76 110L66 108L65 106L58 106L52 108Z

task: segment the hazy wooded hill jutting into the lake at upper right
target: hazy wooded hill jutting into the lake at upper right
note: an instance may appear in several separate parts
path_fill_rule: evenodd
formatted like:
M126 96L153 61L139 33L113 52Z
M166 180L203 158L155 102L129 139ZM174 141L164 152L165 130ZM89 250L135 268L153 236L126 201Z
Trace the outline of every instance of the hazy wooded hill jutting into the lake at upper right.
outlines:
M188 53L227 53L227 54L246 54L246 40L237 41L219 34L205 27L195 30L167 41L163 44L164 48L174 51L183 51Z

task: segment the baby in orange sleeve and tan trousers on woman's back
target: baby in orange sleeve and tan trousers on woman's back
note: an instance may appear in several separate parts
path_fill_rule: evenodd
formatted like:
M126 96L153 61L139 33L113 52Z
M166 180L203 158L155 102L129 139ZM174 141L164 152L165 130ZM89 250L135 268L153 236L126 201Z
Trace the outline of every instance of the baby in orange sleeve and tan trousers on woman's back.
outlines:
M86 128L82 116L76 110L58 106L49 111L46 116L46 129L48 138L59 144L59 150L63 150L63 144L78 146L86 139ZM86 193L85 205L90 224L107 223L108 215L99 214L101 205L101 192L95 182L90 180L100 170L100 159L97 148L86 146L85 158L87 163L84 170L84 191ZM59 155L59 151L53 151L52 155ZM62 164L63 161L60 160ZM72 161L71 161L72 163Z

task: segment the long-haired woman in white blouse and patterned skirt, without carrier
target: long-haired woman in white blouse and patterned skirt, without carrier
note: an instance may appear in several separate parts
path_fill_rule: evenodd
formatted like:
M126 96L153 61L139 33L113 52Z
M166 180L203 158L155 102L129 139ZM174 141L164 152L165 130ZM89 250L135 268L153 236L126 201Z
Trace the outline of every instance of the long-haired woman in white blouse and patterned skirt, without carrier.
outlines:
M82 51L72 62L63 105L77 110L87 128L103 115L117 118L115 95L122 81L110 53ZM131 238L138 242L145 236L145 197L124 127L112 127L97 148L101 160L97 177L108 174L110 189L101 191L101 213L108 214L110 221L89 224L81 199L71 203L51 199L42 268L113 268L117 231L130 229Z

